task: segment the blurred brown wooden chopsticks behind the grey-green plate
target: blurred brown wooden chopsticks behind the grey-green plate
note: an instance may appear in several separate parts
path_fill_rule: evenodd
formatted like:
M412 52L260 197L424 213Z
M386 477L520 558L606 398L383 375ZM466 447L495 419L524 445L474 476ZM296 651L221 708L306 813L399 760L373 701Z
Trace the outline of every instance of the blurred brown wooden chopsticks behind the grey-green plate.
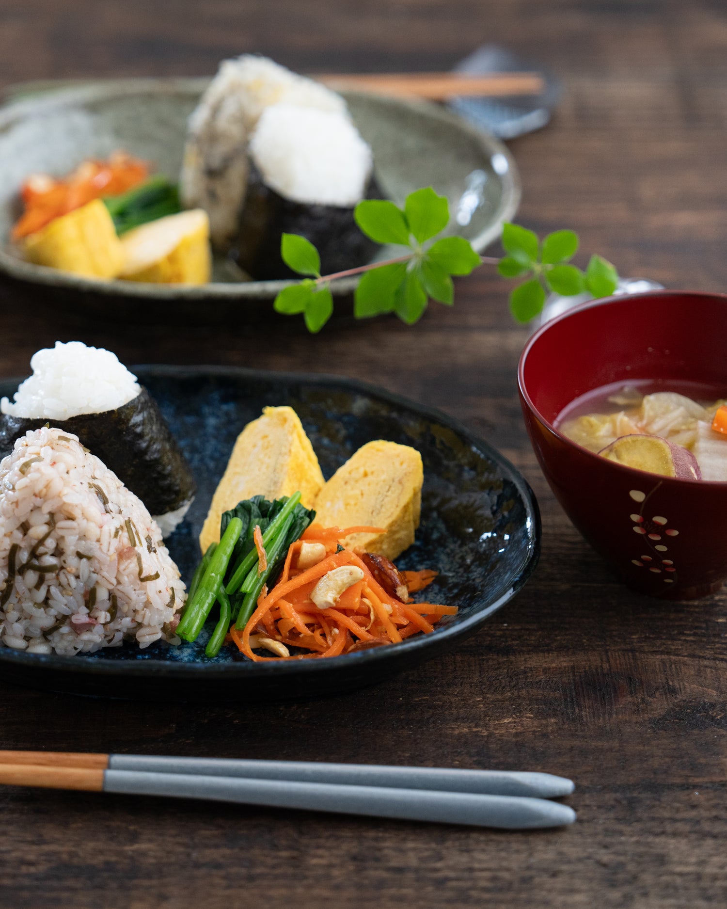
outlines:
M545 81L540 73L372 73L366 75L316 75L319 82L337 92L358 89L378 95L447 101L464 95L505 97L542 95Z

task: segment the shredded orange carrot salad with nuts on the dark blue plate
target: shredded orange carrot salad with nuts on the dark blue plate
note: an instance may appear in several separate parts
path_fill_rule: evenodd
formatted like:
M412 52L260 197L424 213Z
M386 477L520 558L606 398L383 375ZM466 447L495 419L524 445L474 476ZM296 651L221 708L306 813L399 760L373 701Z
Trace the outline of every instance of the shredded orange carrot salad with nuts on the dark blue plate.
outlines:
M431 634L443 615L453 615L456 606L433 603L403 603L388 593L373 577L365 561L339 541L354 533L383 533L376 527L322 527L311 524L303 536L288 549L283 572L268 593L265 589L257 608L244 629L230 629L229 640L256 663L268 660L304 660L348 654L382 644L398 644L412 634ZM323 559L310 568L297 567L301 548L306 543L324 544ZM321 609L311 599L316 584L324 575L344 565L352 565L360 580L340 593L333 605ZM363 573L363 577L361 576ZM422 590L437 573L424 570L403 572L409 591ZM251 640L252 637L252 640ZM259 656L253 648L267 639L308 653ZM271 648L266 648L271 649Z

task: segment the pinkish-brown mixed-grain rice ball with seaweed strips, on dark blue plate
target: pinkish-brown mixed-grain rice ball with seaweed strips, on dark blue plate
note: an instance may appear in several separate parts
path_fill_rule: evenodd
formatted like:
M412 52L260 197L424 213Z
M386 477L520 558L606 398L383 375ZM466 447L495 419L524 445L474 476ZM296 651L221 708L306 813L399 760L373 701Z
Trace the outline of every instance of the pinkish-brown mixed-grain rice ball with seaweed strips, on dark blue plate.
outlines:
M159 527L75 435L44 427L0 463L0 642L32 654L147 647L174 634L184 583Z

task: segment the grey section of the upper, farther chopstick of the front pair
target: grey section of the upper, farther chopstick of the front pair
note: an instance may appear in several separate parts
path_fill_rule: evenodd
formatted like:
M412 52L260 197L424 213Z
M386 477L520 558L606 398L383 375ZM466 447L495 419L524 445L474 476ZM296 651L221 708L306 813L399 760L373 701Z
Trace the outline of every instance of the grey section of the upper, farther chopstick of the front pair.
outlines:
M254 761L112 754L109 768L161 774L244 776L248 779L292 780L300 783L384 786L534 798L559 798L570 795L575 788L573 781L553 774L456 770L445 767L325 764L318 761Z

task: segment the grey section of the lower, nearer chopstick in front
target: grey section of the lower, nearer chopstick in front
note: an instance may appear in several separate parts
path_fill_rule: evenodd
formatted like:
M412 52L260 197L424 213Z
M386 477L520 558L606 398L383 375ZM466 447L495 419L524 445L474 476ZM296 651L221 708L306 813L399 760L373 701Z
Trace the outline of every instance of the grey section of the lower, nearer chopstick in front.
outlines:
M508 795L430 792L381 786L298 783L229 776L105 771L104 791L260 804L335 814L366 814L439 824L522 830L573 824L568 805Z

